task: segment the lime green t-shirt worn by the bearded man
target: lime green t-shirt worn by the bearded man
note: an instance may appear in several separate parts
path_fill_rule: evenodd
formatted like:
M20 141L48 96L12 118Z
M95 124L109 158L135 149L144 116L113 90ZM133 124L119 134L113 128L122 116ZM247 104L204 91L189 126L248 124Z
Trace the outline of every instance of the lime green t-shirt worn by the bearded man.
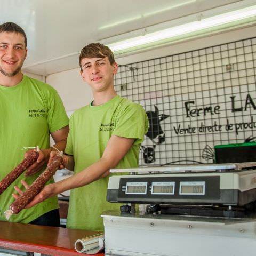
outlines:
M50 85L25 75L15 86L0 85L0 116L0 180L23 160L28 150L22 150L23 147L49 148L50 132L57 131L69 123L57 91ZM20 180L24 179L31 184L40 173L32 177L21 174L0 195L0 220L6 221L4 211L8 210L14 201L14 185L24 189ZM28 223L58 207L58 199L53 197L12 215L9 221Z

